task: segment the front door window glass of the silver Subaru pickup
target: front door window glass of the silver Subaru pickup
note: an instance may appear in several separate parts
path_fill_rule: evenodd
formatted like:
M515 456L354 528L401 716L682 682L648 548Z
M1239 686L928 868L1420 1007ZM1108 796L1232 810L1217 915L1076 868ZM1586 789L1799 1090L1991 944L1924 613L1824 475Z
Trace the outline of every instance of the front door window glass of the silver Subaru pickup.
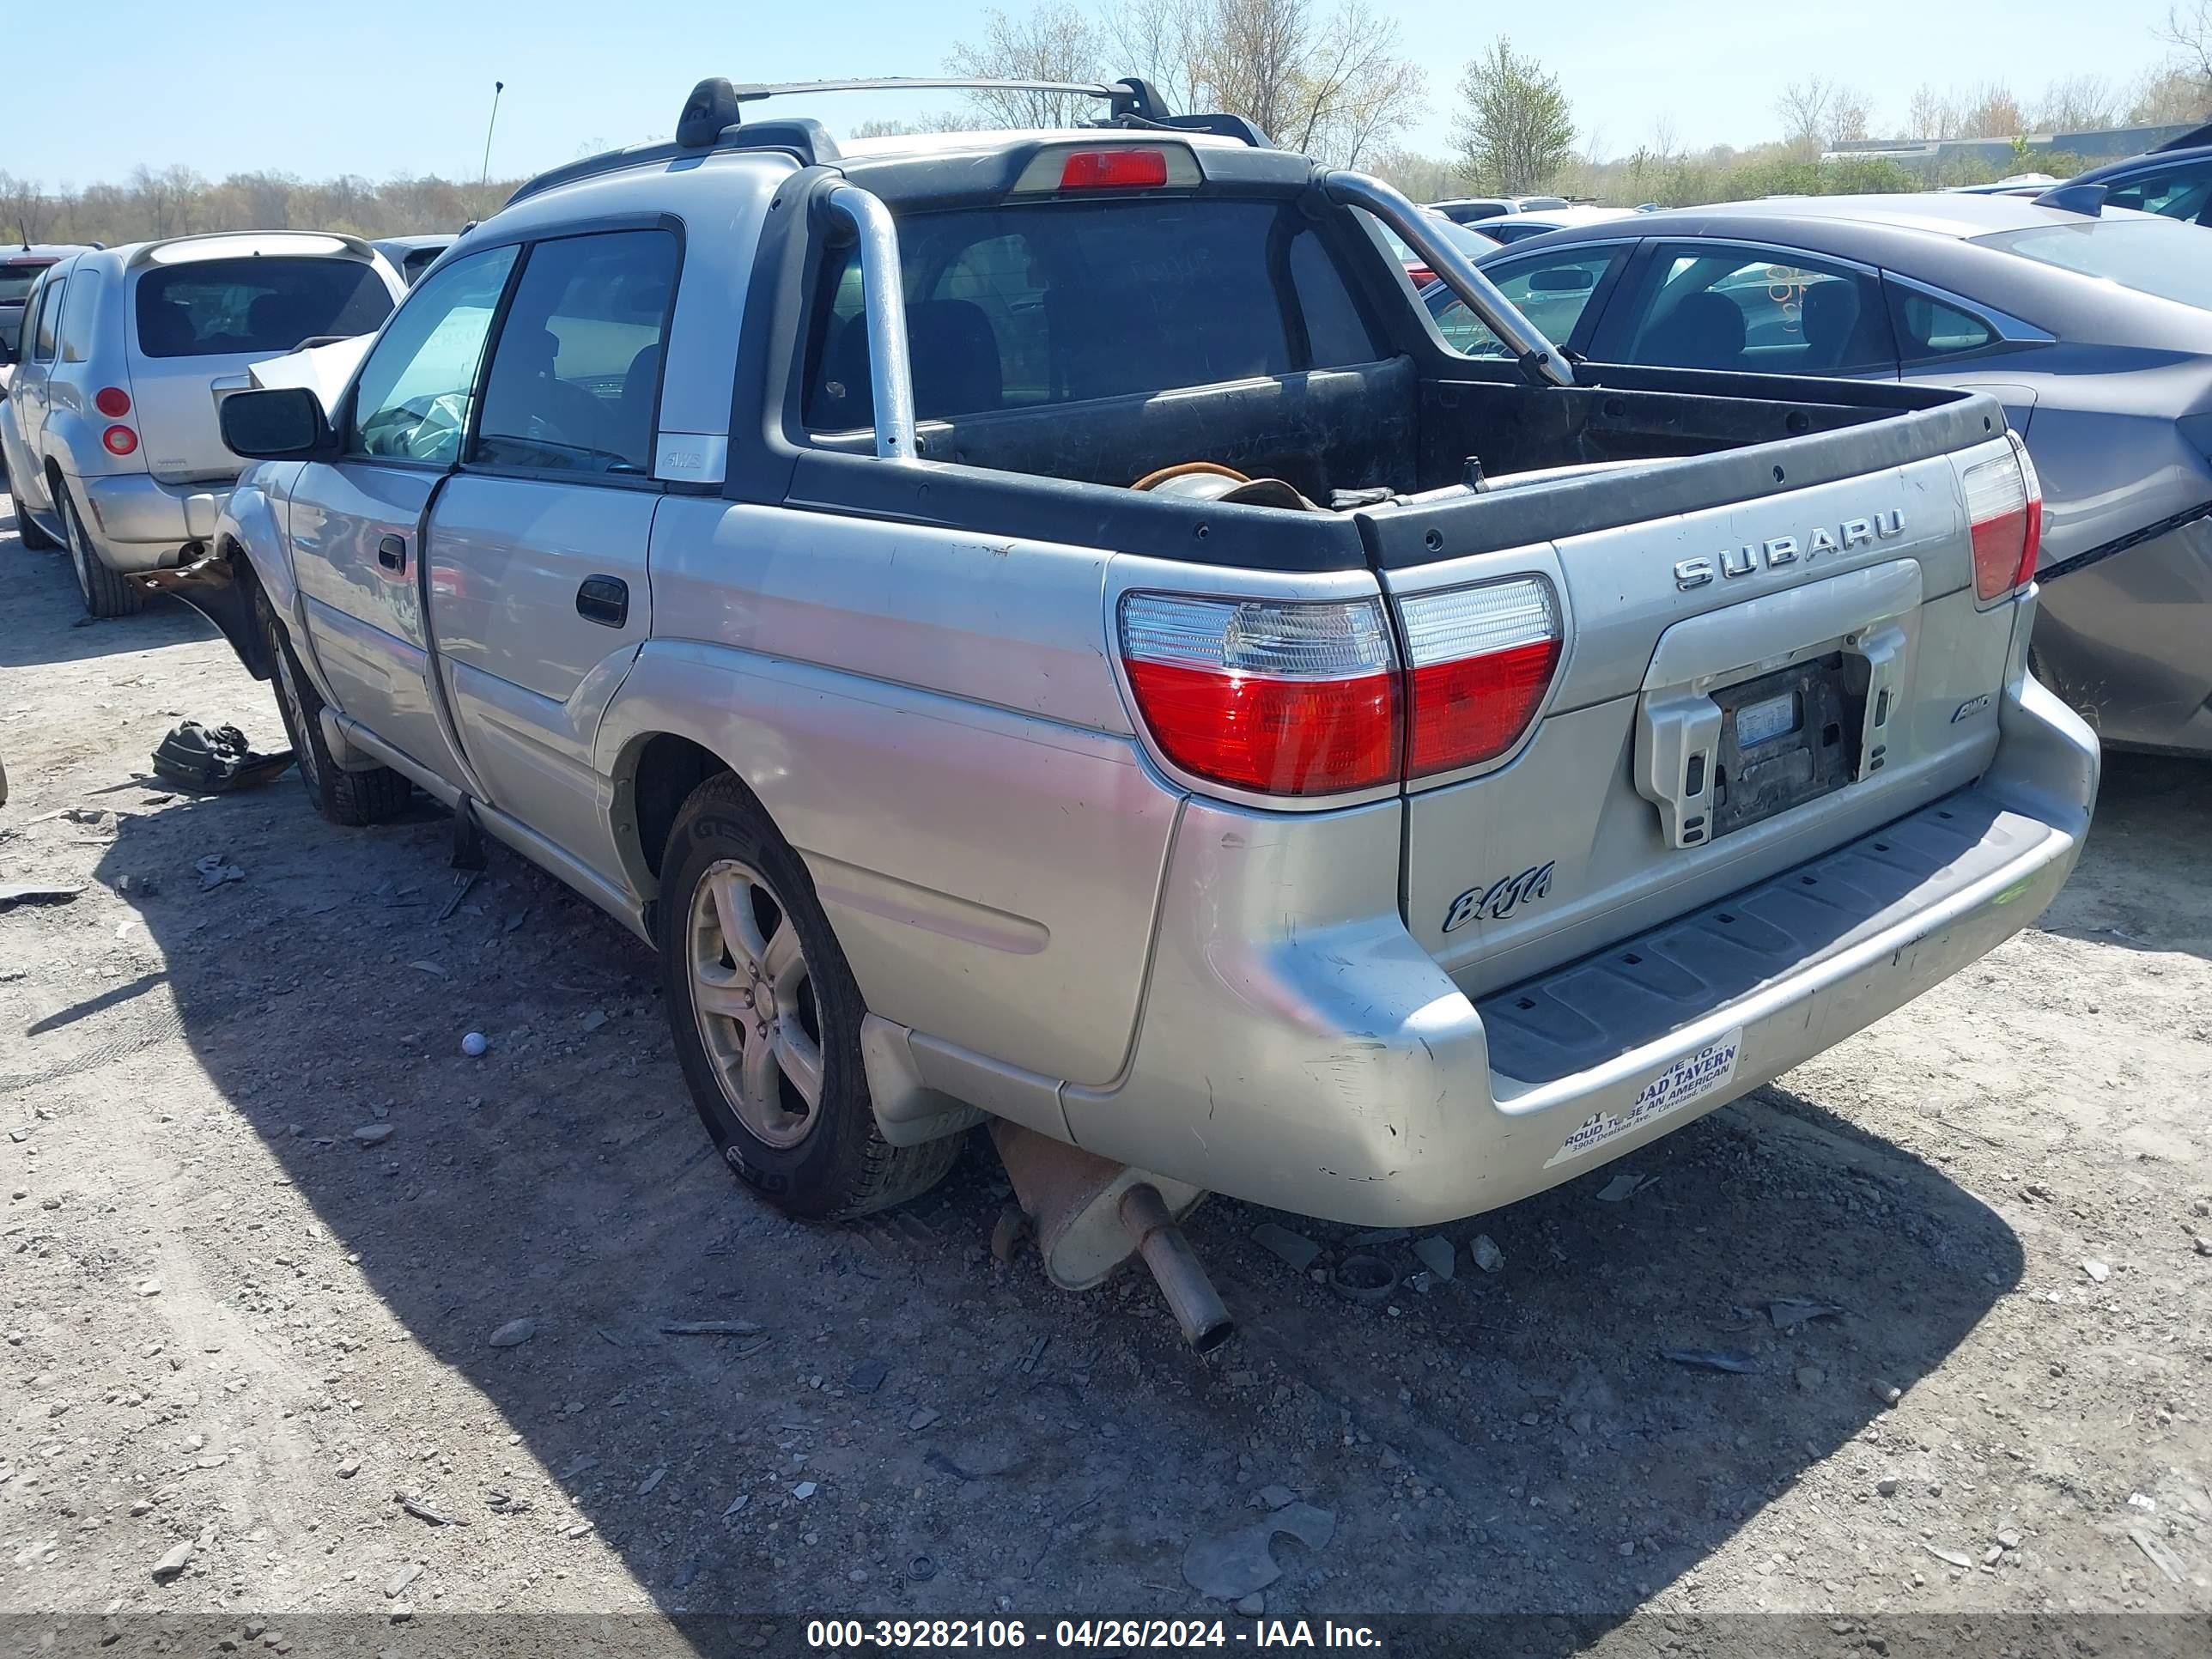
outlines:
M347 449L449 467L469 429L476 372L515 248L487 248L416 288L354 387Z

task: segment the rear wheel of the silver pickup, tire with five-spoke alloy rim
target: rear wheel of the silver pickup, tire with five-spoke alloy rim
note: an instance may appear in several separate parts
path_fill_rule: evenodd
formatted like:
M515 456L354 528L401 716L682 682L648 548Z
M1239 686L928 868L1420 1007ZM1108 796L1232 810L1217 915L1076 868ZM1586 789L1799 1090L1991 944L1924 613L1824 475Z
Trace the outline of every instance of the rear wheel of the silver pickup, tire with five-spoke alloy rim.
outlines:
M860 987L807 867L728 772L692 790L668 832L657 931L677 1060L737 1179L807 1221L885 1210L945 1179L964 1137L883 1139Z

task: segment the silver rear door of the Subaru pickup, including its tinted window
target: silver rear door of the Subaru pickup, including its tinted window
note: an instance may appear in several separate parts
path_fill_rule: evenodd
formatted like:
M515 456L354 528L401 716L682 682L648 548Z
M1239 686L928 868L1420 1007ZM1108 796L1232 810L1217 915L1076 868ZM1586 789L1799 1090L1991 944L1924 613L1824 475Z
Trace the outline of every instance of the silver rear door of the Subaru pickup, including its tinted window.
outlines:
M533 243L478 429L431 513L429 604L460 741L493 805L611 872L591 763L650 633L646 546L672 230Z

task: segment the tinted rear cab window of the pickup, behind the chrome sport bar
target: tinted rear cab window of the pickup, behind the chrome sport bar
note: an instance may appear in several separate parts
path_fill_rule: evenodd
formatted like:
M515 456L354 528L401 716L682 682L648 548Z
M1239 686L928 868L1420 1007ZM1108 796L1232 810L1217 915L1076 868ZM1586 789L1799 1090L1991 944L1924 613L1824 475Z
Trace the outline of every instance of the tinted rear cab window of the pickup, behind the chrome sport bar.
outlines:
M1272 201L1084 201L900 219L914 414L1035 409L1374 363L1312 221ZM827 272L805 422L874 422L858 252Z

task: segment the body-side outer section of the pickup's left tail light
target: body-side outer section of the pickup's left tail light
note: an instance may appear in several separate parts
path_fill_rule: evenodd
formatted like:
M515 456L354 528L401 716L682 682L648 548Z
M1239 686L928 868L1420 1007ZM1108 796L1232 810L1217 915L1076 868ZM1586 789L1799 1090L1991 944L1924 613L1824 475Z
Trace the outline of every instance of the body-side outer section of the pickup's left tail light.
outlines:
M1380 599L1121 599L1121 661L1183 772L1261 794L1398 779L1398 670Z

